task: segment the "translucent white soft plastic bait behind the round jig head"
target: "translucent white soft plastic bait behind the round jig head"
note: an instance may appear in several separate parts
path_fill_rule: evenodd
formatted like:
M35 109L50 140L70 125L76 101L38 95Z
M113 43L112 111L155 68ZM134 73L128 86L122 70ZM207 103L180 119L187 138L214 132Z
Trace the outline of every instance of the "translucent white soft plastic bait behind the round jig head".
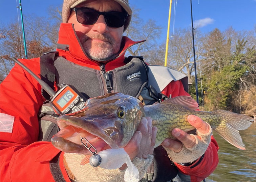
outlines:
M124 175L125 182L138 182L140 179L140 174L136 166L131 162L129 155L122 149L107 149L100 151L98 153L102 162L100 164L101 168L104 169L118 169L124 163L127 164L127 169Z

